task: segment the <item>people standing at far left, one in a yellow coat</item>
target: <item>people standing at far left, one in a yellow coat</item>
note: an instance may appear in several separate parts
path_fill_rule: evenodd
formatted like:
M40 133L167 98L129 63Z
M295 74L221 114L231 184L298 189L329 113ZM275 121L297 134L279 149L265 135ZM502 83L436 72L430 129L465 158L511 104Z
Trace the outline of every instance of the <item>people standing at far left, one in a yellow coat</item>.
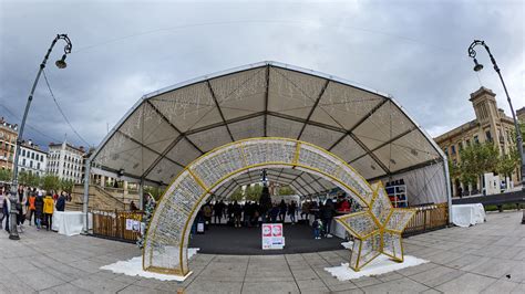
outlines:
M43 191L37 188L20 186L17 190L18 201L11 202L8 186L0 187L1 216L0 224L10 232L10 213L16 212L17 228L23 232L23 224L34 224L38 230L45 228L48 231L53 225L53 212L64 211L65 202L71 201L71 195L54 191Z

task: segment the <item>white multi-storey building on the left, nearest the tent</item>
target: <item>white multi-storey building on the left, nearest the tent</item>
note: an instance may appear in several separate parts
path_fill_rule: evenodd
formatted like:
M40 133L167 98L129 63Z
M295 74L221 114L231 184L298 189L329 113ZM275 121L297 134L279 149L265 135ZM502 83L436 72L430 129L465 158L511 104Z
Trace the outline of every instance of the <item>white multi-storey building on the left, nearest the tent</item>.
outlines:
M74 147L65 140L60 144L49 145L48 174L55 175L60 179L82 182L82 167L84 148Z

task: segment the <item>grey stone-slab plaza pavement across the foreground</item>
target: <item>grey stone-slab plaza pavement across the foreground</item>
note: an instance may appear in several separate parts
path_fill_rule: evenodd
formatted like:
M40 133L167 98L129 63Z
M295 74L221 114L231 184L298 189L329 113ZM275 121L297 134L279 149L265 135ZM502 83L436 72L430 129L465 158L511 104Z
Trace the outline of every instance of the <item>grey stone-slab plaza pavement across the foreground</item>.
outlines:
M197 254L184 282L162 282L102 271L141 254L133 244L63 237L27 228L20 241L0 233L1 293L525 293L522 212L488 213L473 228L451 228L404 240L405 254L429 263L340 282L323 267L348 251L289 255Z

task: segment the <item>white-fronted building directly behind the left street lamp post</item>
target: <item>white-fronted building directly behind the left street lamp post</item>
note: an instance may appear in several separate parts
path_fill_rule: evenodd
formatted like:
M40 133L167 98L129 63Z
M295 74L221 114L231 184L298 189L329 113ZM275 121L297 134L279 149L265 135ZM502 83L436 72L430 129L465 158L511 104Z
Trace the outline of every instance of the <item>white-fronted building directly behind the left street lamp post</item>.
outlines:
M22 141L18 157L18 171L28 171L37 176L44 176L48 166L48 153L40 149L31 140Z

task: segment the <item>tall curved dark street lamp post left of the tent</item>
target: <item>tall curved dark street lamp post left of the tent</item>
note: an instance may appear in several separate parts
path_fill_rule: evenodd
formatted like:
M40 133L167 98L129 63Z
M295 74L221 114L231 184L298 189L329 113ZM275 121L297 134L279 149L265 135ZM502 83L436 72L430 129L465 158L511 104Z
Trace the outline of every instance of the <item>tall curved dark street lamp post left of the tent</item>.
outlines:
M65 46L64 46L64 54L62 55L62 59L58 60L55 62L56 67L59 69L65 69L66 63L65 63L65 56L71 53L71 49L73 45L71 44L70 39L68 38L66 34L58 34L53 42L51 42L51 46L48 49L48 53L45 53L45 56L40 64L39 72L37 74L37 78L34 78L33 86L31 87L31 93L29 94L28 97L28 103L25 104L25 111L23 113L22 117L22 123L20 124L20 130L18 134L18 139L17 139L17 149L14 151L14 167L13 167L13 181L11 185L11 211L10 211L10 233L9 233L9 239L11 240L20 240L20 237L17 231L17 203L19 202L19 197L18 197L18 157L20 155L20 145L22 144L22 135L23 135L23 128L25 126L25 118L28 118L28 113L29 113L29 107L31 106L31 102L33 101L33 94L34 90L37 88L37 85L40 80L40 75L42 74L42 71L45 69L45 64L48 62L49 55L51 54L51 51L53 50L54 44L59 40L64 40L65 41Z

